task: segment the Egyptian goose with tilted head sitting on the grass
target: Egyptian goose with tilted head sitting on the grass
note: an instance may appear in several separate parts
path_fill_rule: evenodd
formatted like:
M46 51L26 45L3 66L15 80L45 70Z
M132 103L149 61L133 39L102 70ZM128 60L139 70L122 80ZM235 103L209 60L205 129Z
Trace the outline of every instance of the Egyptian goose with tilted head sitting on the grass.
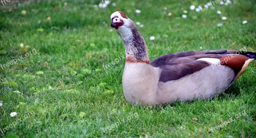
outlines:
M227 90L256 58L252 52L212 50L166 54L150 62L134 22L121 11L110 19L125 44L123 91L133 105L213 98Z

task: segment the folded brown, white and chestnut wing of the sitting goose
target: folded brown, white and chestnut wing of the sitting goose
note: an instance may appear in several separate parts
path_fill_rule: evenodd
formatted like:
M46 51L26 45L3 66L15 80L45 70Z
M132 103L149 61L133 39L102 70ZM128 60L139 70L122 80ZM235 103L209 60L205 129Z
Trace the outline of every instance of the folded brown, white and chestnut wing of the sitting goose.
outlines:
M180 79L207 66L214 68L218 63L233 69L237 79L255 57L256 53L235 50L186 51L160 56L150 65L162 69L161 82Z

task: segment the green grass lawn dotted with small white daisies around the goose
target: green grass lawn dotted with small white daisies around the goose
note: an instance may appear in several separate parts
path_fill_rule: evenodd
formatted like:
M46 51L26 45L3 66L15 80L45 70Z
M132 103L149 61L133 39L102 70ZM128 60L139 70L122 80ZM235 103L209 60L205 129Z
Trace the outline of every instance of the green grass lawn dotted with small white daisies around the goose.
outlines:
M255 1L217 4L198 13L189 6L203 7L209 1L112 0L105 9L93 7L100 2L0 3L0 63L26 57L0 68L0 128L4 130L0 137L256 136L256 62L227 91L231 98L219 95L159 108L126 102L122 90L125 60L106 70L102 67L124 54L121 38L110 27L115 11L144 25L139 31L151 61L190 50L246 48L256 52ZM136 9L141 13L136 15ZM185 19L181 18L183 10L188 11ZM222 16L227 20L221 20ZM242 24L243 20L248 23ZM155 40L149 40L150 36ZM18 116L10 117L11 112ZM15 127L10 125L15 121Z

